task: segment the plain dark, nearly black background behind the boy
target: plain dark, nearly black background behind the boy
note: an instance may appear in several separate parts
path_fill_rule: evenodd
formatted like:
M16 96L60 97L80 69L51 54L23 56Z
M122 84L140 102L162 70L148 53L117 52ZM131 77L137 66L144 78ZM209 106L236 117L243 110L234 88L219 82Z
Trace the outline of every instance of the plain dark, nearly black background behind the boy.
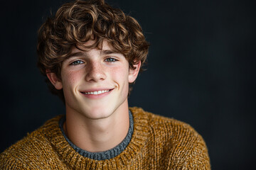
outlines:
M213 169L255 167L255 2L107 1L141 23L151 43L130 106L189 123ZM37 30L63 1L1 2L0 152L65 113L36 67Z

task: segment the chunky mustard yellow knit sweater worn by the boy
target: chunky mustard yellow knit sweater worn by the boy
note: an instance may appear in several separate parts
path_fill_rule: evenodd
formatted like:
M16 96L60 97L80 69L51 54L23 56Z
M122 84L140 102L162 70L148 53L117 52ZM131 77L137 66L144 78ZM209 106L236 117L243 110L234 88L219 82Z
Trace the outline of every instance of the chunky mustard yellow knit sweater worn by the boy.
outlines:
M130 108L134 131L129 145L112 159L75 152L59 127L45 123L0 154L0 169L210 169L208 150L190 125Z

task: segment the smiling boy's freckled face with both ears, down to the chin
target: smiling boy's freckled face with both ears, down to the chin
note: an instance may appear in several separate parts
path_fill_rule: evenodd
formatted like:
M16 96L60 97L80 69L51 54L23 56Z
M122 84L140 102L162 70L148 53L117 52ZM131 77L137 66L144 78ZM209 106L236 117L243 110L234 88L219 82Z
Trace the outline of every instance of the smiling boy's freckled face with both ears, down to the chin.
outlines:
M47 74L56 89L63 89L67 113L100 119L127 107L129 83L137 78L140 62L136 69L129 69L124 55L114 52L106 40L102 50L74 48L72 54L63 62L61 80Z

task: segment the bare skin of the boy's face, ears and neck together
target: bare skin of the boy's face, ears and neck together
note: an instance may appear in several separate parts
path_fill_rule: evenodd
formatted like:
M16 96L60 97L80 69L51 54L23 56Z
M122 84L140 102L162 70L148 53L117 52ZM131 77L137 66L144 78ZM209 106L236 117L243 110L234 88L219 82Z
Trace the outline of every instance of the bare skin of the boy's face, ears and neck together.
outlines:
M129 83L137 78L141 62L134 65L136 69L129 69L124 55L114 52L106 40L102 49L85 52L74 48L72 54L63 62L61 79L47 74L53 86L64 92L65 133L88 152L112 149L127 135ZM85 94L102 90L107 93Z

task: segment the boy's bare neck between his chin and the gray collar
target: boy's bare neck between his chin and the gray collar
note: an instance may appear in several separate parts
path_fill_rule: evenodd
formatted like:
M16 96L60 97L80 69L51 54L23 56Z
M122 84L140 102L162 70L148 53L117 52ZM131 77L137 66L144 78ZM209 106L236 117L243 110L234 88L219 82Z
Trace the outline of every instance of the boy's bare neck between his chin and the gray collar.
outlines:
M104 152L119 145L129 130L128 102L107 118L90 119L67 109L65 134L87 152Z

